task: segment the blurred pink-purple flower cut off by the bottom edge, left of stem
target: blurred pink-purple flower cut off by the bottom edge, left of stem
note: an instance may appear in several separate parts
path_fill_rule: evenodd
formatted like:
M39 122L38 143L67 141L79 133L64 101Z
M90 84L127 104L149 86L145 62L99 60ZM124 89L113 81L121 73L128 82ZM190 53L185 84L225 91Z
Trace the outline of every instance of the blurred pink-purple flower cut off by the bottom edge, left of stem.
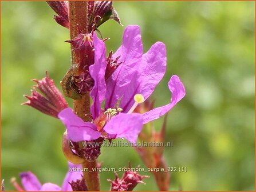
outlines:
M81 167L81 165L73 165L69 162L70 170L74 167ZM36 175L31 173L31 171L23 172L19 174L19 177L21 178L21 183L23 188L26 191L72 191L72 187L69 183L72 183L73 181L76 181L77 179L81 178L81 172L73 171L66 174L66 177L64 179L64 182L62 184L62 187L54 184L54 183L44 183L43 185L38 180ZM15 181L15 179L12 181L14 187L18 191L24 191L21 186L18 185L18 183Z

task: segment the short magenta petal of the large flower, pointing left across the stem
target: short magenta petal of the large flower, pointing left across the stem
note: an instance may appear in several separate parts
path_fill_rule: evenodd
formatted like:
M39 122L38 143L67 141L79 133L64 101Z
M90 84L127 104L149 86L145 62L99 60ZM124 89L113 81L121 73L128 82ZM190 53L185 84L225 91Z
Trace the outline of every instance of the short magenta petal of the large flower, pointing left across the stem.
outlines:
M68 130L68 138L71 141L90 141L100 137L101 133L97 127L90 122L84 122L74 114L71 108L66 108L58 114L58 118L64 123Z

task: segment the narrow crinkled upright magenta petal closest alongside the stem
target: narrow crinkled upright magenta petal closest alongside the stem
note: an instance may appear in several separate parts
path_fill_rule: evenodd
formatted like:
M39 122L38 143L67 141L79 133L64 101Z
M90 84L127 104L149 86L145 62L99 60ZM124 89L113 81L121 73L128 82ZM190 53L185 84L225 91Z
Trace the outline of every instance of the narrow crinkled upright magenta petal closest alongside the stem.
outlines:
M105 70L106 70L106 47L96 33L93 33L94 42L94 64L89 67L90 75L94 80L94 86L90 93L93 104L90 107L93 119L97 118L101 112L101 102L106 94Z

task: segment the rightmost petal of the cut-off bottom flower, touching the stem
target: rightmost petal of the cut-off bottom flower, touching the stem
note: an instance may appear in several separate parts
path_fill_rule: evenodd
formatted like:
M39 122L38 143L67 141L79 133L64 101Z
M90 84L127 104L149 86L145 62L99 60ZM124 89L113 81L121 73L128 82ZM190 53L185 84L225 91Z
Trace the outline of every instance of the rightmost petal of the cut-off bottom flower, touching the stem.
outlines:
M81 165L74 165L70 162L68 162L69 167L70 168L75 168L77 167L78 169L81 168ZM68 169L68 173L66 173L66 177L64 179L64 182L62 184L62 191L72 191L72 188L69 184L69 182L71 183L72 181L76 181L77 179L81 179L82 172L81 171L70 171L70 169Z

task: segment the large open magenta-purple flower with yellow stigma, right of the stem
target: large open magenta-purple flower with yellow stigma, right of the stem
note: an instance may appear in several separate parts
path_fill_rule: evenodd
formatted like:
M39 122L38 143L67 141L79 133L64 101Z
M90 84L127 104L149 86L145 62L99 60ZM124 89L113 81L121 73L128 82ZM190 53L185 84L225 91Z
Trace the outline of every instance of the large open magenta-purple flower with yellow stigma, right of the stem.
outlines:
M94 80L90 92L92 97L92 122L83 122L72 109L64 109L58 117L68 130L71 141L90 141L100 136L106 138L125 138L136 142L143 124L166 114L186 94L179 77L173 75L168 82L172 93L171 102L144 114L133 113L136 106L144 102L161 81L166 72L166 47L156 42L143 54L140 27L128 26L123 35L123 45L112 55L119 58L120 66L111 77L105 79L105 43L93 34L94 64L89 73ZM101 105L105 100L104 110Z

